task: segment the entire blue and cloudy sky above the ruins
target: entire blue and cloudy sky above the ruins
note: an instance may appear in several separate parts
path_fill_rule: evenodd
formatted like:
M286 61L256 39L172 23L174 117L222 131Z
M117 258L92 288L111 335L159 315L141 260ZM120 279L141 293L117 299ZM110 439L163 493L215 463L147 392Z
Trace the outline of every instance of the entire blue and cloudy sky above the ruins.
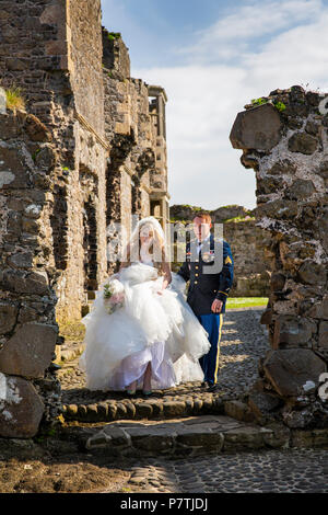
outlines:
M328 1L102 0L131 75L168 95L172 204L256 206L230 130L250 99L294 84L328 91Z

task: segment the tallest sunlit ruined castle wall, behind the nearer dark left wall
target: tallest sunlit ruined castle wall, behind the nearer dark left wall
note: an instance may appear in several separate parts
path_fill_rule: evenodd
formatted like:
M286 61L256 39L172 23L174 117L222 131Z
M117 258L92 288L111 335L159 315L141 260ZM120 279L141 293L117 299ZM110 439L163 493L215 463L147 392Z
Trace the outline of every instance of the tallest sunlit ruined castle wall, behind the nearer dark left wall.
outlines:
M61 272L57 319L78 320L86 290L107 270L101 2L4 2L2 20L14 28L1 33L1 83L23 88L26 108L56 146L50 219Z

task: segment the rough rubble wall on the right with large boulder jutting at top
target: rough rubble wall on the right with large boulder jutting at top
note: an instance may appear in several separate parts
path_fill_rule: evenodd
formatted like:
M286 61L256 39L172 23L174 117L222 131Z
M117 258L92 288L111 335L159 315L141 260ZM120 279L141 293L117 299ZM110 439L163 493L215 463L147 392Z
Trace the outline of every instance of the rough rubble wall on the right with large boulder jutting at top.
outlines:
M256 171L257 226L268 234L272 272L262 317L271 351L260 363L250 405L262 415L276 410L298 428L328 426L320 388L328 363L325 96L301 87L276 90L262 105L247 105L231 133L242 163Z

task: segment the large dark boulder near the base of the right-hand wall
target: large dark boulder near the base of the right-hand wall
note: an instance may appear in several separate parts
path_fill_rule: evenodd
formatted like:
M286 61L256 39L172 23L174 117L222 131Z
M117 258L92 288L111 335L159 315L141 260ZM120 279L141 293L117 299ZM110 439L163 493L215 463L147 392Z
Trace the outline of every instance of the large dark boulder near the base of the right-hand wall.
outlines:
M303 392L303 385L319 385L319 376L326 371L326 363L308 348L270 351L263 363L267 378L282 397Z

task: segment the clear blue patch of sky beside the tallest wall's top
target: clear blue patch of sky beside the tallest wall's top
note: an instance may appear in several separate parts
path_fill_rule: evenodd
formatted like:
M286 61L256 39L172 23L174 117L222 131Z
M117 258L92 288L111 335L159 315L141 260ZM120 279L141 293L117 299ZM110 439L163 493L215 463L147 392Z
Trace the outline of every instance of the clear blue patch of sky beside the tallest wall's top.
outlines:
M102 0L102 5L103 24L122 33L134 68L184 64L176 50L229 12L221 0Z

